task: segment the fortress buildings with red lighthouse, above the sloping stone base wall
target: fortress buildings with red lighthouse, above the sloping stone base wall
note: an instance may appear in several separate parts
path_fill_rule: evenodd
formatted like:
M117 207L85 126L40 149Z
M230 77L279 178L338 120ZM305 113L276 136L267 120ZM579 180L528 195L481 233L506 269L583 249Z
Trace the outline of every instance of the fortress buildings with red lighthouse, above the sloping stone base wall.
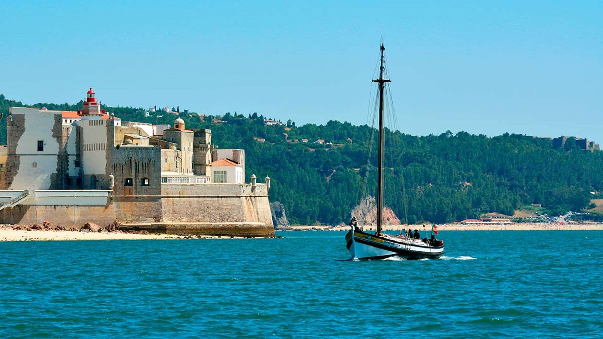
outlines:
M147 192L149 185L126 185L128 179L130 184L144 179L147 184L150 180L244 183L245 151L216 150L219 157L212 159L210 130L187 129L181 118L175 119L173 128L144 122L120 124L120 119L101 108L91 88L77 112L10 107L1 188L107 189L113 182L116 194L129 195L137 192L131 187ZM127 165L132 161L144 165ZM157 187L153 189L160 192Z

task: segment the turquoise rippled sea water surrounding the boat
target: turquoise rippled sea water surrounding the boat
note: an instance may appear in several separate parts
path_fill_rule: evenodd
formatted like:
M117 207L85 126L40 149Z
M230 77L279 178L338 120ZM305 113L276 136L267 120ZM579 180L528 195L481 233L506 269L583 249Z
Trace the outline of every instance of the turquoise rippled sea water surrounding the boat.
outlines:
M345 261L344 232L0 243L0 337L601 337L603 232L441 232Z

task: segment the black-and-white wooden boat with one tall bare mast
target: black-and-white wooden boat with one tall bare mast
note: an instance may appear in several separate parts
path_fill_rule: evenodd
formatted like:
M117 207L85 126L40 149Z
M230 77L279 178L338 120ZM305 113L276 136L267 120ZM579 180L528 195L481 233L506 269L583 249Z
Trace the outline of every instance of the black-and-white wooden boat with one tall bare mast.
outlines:
M444 242L435 239L416 239L412 235L390 235L381 232L383 219L383 147L384 147L384 89L391 80L384 78L385 46L381 44L381 66L379 78L373 82L379 84L379 158L377 165L377 232L364 232L357 226L356 218L350 221L350 230L346 234L347 249L356 259L383 259L399 256L406 259L438 258L444 253ZM432 229L433 230L433 229ZM410 232L409 232L410 233ZM437 234L437 230L436 230ZM418 235L415 232L415 235Z

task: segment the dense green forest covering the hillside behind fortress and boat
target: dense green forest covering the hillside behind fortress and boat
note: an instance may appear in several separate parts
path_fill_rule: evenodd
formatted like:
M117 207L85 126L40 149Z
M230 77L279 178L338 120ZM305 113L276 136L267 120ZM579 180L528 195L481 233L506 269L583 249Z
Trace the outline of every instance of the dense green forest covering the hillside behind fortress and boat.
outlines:
M33 106L75 110L79 105ZM0 142L5 142L8 106L24 105L0 96ZM219 148L244 148L246 180L251 174L260 181L270 176L270 199L283 203L292 223L347 221L362 195L376 191L375 151L367 162L376 141L367 125L329 121L295 127L287 121L267 126L257 113L200 118L155 112L145 117L142 109L104 108L126 121L173 124L179 116L188 128L210 128ZM485 212L512 215L531 203L543 204L552 214L578 211L589 203L590 192L603 186L603 153L581 151L572 139L555 149L550 139L508 133L488 138L463 131L411 136L386 130L385 136L385 204L409 223L443 223Z

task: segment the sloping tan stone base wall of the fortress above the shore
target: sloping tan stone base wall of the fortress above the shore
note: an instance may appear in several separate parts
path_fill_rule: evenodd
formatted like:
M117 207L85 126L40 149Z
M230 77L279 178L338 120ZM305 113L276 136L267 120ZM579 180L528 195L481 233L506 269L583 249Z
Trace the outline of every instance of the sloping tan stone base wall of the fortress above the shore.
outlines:
M253 193L249 184L164 186L162 195L113 195L104 206L19 204L0 210L0 223L42 224L46 220L52 225L81 227L118 220L130 229L150 232L274 236L263 184Z

